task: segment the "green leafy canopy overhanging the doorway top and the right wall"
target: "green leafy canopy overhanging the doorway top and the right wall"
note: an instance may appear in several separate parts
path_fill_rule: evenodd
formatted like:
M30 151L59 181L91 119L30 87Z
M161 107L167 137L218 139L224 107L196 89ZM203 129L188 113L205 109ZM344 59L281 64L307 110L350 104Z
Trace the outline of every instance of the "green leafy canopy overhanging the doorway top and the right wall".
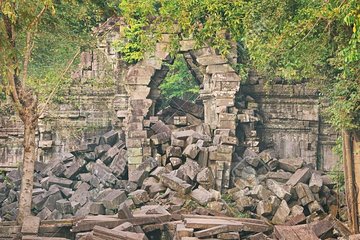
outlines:
M269 83L313 83L335 127L360 129L358 0L124 0L120 10L130 39L120 52L130 62L161 33L192 37L223 55L237 42L242 75L250 65Z

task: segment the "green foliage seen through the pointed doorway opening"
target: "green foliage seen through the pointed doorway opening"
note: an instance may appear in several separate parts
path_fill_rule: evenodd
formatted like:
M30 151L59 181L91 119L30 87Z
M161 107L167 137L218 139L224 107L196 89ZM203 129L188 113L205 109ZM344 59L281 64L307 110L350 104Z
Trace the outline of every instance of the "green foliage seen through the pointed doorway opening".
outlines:
M174 63L169 64L169 72L160 84L165 103L173 97L194 100L200 91L195 77L190 73L183 55L178 54Z

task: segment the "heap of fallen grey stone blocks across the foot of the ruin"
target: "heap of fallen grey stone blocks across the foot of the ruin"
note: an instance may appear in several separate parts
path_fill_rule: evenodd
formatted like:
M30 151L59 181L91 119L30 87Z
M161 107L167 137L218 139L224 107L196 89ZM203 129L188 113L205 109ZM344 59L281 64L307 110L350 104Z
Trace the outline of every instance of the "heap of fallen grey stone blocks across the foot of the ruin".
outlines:
M36 162L33 214L41 220L115 214L122 219L121 214L129 215L130 210L126 210L129 208L143 215L161 210L167 218L189 213L225 217L234 216L235 208L238 213L251 213L274 225L297 225L322 219L327 214L346 220L344 196L334 190L327 175L314 170L303 159L278 159L272 149L259 154L251 147L243 151L235 135L235 125L228 126L235 122L233 115L220 113L223 128L212 132L202 121L203 111L200 105L173 99L170 107L158 116L144 120L149 140L132 136L125 141L122 132L111 130L48 164ZM134 129L133 133L136 132ZM141 141L141 155L147 153L138 166L129 165L128 157L140 155L136 152L140 148L126 148L138 145L136 141ZM224 167L230 164L231 171ZM224 199L222 187L230 179L234 187L225 191L230 198ZM20 182L19 170L7 173L0 181L2 220L16 219ZM157 208L151 210L154 206ZM202 236L237 239L239 232L244 231L229 227L228 222L220 224L221 220L211 225L202 218L206 227L196 227L200 220L192 220L196 225L193 227L186 219L173 227L179 228L179 232L195 229L194 235L188 236L195 239ZM148 217L139 217L137 221L144 219ZM98 228L93 233L101 236L106 231ZM249 237L256 233L263 237L268 231L241 234Z

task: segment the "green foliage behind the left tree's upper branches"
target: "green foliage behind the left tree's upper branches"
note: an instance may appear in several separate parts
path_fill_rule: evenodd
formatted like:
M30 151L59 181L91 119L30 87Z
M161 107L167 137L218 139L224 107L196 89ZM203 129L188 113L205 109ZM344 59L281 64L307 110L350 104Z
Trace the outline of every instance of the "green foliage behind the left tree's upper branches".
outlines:
M0 7L0 75L14 61L15 67L22 71L27 28L43 7L46 11L39 19L33 32L32 54L26 84L44 101L53 89L71 83L68 71L64 79L59 79L76 52L92 48L96 39L91 32L93 27L104 22L118 11L119 1L71 0L71 1L10 1L1 2ZM16 26L16 48L7 41L4 16L12 19ZM14 51L15 50L15 51ZM73 62L76 66L78 59ZM4 67L4 68L3 68ZM0 95L7 94L6 78L0 78ZM20 79L22 80L22 79ZM59 84L59 81L61 83ZM60 87L59 87L60 86ZM60 99L55 95L55 100Z

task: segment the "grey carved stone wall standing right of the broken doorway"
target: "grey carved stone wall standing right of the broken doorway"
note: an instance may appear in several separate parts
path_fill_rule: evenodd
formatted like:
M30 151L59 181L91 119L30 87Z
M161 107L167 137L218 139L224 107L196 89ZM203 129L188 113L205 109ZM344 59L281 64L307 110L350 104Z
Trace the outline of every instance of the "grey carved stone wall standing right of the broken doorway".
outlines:
M273 147L279 158L301 157L331 171L338 160L333 148L338 133L323 118L318 91L310 84L275 84L252 75L241 94L254 99L261 121L256 130L261 148Z

